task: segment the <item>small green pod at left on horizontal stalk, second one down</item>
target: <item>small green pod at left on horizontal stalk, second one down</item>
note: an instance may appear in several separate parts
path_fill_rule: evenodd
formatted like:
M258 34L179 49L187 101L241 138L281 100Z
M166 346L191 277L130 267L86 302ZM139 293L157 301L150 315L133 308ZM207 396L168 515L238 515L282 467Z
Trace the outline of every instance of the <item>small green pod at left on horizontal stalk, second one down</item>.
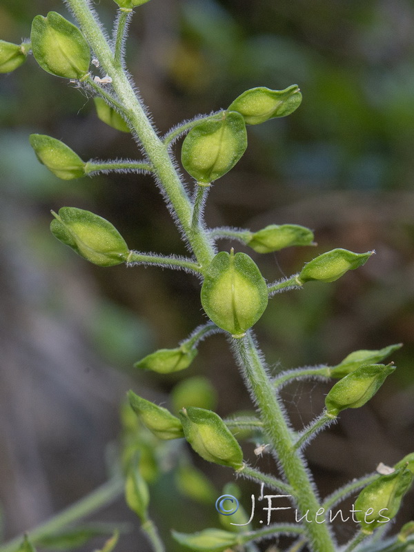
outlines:
M29 140L37 159L57 177L72 180L85 176L86 163L60 140L43 134L32 134Z

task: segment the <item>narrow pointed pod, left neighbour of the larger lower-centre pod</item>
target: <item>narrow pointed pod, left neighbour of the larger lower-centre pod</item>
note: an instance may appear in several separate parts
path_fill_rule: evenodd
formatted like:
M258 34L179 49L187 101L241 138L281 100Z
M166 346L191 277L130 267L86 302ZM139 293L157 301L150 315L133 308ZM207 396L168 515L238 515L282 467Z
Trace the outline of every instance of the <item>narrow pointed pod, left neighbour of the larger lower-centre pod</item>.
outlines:
M142 399L133 391L128 391L128 400L139 420L159 439L178 439L184 436L179 419L164 406Z

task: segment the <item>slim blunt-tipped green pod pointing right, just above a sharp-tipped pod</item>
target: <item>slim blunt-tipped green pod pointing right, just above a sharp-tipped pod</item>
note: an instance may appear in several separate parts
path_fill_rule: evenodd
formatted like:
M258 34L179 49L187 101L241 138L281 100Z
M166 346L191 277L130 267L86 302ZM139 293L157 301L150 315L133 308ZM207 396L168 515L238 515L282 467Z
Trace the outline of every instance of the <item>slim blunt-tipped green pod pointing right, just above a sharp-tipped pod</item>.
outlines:
M270 224L253 233L246 244L257 253L271 253L290 246L309 246L313 243L313 233L297 224Z

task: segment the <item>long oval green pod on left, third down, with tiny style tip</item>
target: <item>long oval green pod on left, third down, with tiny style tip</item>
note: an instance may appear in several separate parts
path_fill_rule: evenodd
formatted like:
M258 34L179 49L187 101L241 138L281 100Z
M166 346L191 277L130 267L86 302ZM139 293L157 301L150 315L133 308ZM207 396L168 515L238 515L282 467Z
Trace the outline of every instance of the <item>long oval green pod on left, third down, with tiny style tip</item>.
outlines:
M99 266L126 262L128 246L106 219L76 207L62 207L50 224L52 234L83 259Z

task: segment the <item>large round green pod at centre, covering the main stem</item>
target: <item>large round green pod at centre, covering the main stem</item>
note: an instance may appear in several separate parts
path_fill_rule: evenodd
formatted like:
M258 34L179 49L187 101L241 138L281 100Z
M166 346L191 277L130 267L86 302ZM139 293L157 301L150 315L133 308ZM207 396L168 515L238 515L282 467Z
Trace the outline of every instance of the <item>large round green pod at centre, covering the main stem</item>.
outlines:
M246 253L215 255L201 287L208 317L233 337L242 337L264 313L268 288L259 268Z

